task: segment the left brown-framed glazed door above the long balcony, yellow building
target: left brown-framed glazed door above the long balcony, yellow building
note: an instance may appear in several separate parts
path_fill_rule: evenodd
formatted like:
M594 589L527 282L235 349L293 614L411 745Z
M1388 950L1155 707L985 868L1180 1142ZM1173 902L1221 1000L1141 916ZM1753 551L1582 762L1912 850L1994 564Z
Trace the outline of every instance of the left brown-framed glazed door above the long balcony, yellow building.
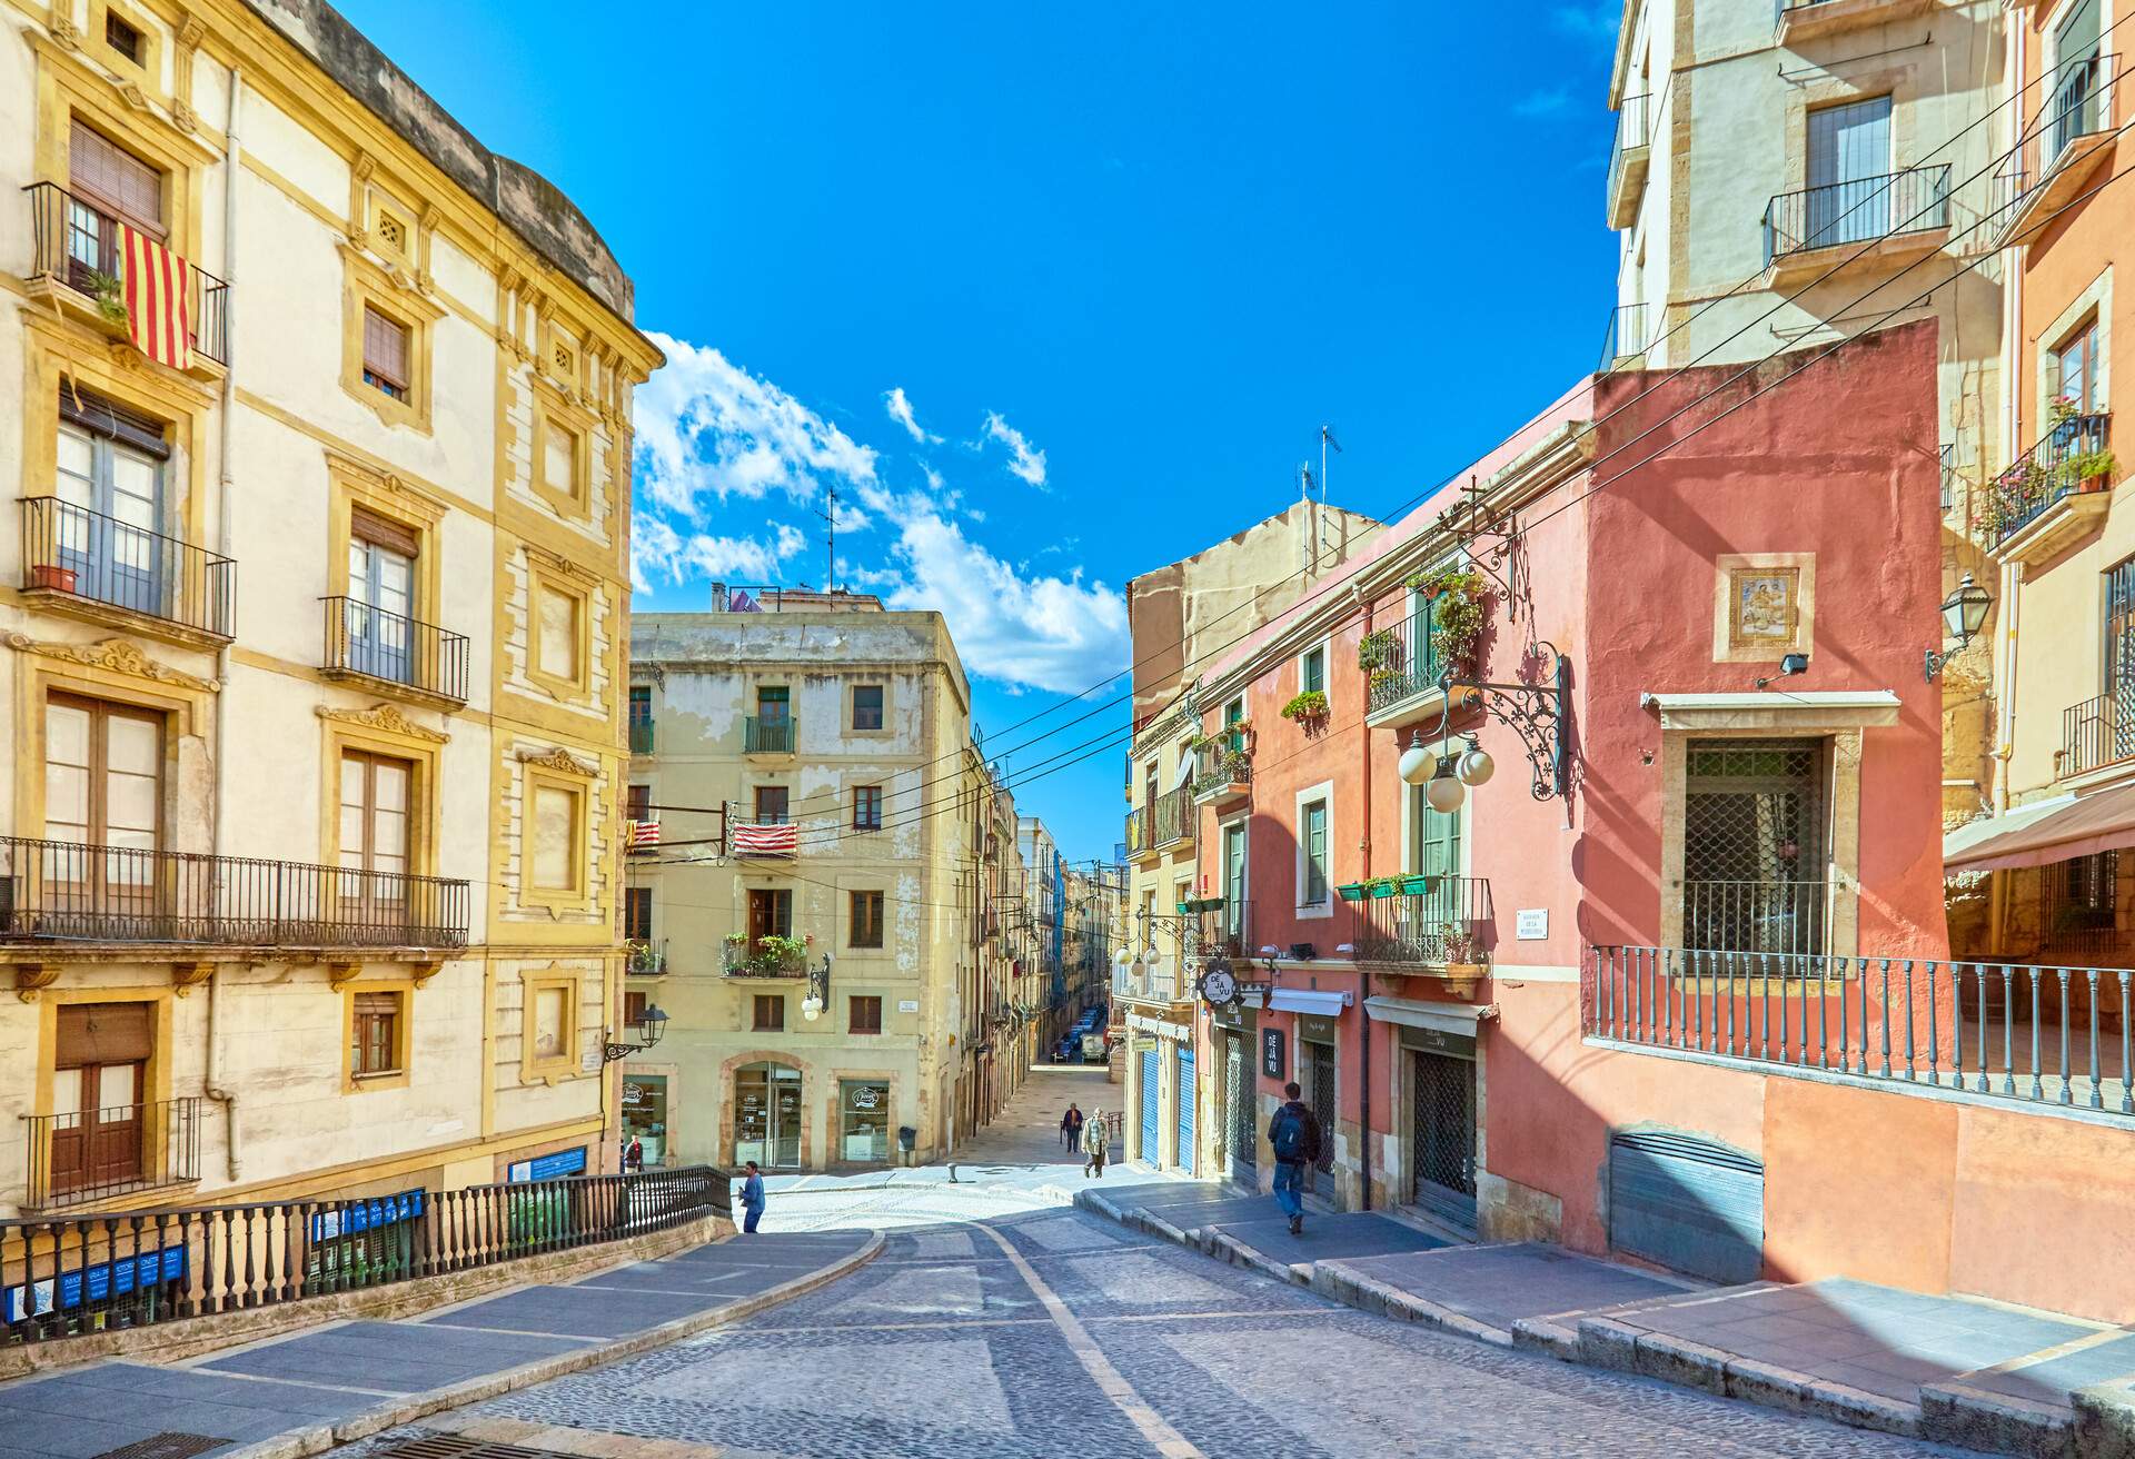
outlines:
M45 705L45 837L154 852L162 822L162 716L53 694ZM66 882L105 878L117 897L154 897L147 857L66 859ZM58 869L58 867L53 867ZM51 878L51 872L47 872Z

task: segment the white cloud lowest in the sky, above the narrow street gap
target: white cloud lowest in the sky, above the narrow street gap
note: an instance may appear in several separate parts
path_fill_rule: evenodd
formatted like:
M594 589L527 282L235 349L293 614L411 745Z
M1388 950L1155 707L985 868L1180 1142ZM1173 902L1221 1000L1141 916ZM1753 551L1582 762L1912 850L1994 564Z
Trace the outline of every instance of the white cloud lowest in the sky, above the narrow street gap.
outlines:
M905 583L890 607L939 611L976 675L1074 694L1127 666L1127 600L1080 568L1029 575L939 513L907 517L895 558Z

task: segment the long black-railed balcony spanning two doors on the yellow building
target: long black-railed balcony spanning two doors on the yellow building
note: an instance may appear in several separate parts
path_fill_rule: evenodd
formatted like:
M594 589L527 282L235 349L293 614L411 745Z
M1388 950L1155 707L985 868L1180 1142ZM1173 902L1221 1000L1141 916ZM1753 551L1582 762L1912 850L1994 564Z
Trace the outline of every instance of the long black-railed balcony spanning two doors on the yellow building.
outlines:
M0 940L459 948L468 882L0 837Z

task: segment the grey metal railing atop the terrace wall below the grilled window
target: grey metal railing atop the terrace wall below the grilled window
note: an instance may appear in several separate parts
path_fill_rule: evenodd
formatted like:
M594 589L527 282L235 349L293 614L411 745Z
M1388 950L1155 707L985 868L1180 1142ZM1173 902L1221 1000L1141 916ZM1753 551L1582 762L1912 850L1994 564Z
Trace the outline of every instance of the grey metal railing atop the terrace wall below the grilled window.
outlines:
M2135 1115L2135 970L1595 946L1586 1034Z

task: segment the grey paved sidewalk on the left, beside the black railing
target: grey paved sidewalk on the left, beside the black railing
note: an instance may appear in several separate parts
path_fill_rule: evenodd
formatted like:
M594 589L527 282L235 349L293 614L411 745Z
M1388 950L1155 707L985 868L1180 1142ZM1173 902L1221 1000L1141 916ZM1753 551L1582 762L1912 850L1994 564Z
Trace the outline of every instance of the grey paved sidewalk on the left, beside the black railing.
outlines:
M102 1361L21 1378L0 1384L0 1459L100 1459L169 1436L216 1440L186 1448L211 1459L322 1453L329 1438L758 1312L877 1250L867 1230L732 1237L395 1322L327 1322L169 1367Z

